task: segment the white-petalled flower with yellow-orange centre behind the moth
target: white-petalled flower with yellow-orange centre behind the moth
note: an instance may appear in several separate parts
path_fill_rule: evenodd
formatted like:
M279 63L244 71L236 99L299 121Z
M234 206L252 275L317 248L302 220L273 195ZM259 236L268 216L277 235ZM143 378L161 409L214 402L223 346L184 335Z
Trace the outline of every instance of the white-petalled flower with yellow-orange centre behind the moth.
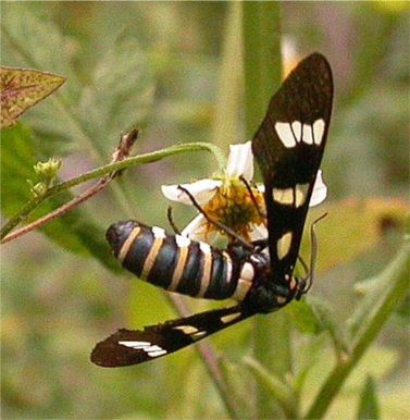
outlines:
M254 185L253 155L251 141L229 146L229 156L224 177L204 178L189 184L163 185L163 195L173 201L192 205L185 188L201 206L204 213L214 221L231 227L245 240L252 242L266 238L266 220L263 199L263 185ZM241 178L246 180L248 186ZM249 188L252 195L249 194ZM322 180L322 171L318 172L310 207L318 206L326 198L327 188ZM210 234L226 235L214 224L209 223L199 213L183 230L182 234L194 240L209 242Z

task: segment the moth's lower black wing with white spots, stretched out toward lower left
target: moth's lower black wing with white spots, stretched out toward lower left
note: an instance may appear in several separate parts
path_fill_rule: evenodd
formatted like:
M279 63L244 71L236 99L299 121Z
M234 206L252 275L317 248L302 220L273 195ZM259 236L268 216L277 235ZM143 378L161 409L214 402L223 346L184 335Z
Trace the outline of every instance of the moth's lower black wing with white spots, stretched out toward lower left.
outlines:
M91 361L101 367L116 368L154 360L252 314L237 305L146 326L144 331L122 329L96 345Z

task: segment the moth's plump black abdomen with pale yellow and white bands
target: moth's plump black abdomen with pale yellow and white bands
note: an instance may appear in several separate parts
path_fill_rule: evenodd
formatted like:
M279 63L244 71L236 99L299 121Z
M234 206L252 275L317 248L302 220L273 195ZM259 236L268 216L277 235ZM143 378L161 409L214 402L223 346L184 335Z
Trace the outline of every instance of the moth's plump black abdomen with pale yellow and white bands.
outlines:
M124 268L170 292L208 299L244 300L254 277L249 259L229 255L161 227L117 222L107 239ZM248 260L248 261L247 261Z

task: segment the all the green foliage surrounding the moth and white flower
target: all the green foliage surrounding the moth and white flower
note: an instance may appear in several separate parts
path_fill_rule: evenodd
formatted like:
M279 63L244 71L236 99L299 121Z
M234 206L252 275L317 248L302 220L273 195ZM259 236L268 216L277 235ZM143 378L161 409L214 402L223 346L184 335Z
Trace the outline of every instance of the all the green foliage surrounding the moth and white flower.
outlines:
M30 233L3 245L3 417L408 418L402 381L408 372L400 363L407 355L410 254L402 239L406 7L3 2L1 8L3 64L67 79L1 132L2 214L10 221L32 202L23 214L29 223L77 196L73 186L126 169L98 197L41 227L46 236ZM311 215L328 212L318 228L318 275L310 295L212 339L223 354L226 390L215 387L195 348L137 368L91 366L87 355L108 332L173 317L160 292L122 279L126 274L109 255L104 227L128 217L161 225L166 202L159 199L160 184L216 169L204 155L177 153L208 150L221 166L216 145L251 136L279 82L279 27L301 50L323 51L335 70L324 161L331 202ZM353 34L355 42L340 41ZM215 46L222 41L221 58ZM245 119L238 118L244 111ZM211 121L219 122L213 137ZM136 125L142 128L139 155L124 166L110 166L121 133ZM214 145L188 144L192 139ZM140 153L146 150L154 151ZM42 171L36 178L33 166L51 158L62 161L59 177L46 180ZM61 182L66 178L75 182ZM33 196L27 180L44 182L46 196ZM181 224L189 218L182 212ZM302 255L309 255L309 244ZM213 306L189 304L192 311ZM249 391L254 384L257 395Z

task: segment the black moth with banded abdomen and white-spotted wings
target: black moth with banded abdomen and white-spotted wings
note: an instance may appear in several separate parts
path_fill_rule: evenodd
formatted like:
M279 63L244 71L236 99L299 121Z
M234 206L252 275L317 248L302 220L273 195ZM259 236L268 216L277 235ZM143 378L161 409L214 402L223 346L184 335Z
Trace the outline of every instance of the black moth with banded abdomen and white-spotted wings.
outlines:
M115 257L139 279L198 298L232 298L237 305L142 331L119 330L97 344L94 363L123 367L154 360L249 317L276 311L308 292L310 279L297 277L294 270L332 101L332 70L318 52L296 66L270 101L252 139L264 184L266 239L219 249L132 220L109 227Z

